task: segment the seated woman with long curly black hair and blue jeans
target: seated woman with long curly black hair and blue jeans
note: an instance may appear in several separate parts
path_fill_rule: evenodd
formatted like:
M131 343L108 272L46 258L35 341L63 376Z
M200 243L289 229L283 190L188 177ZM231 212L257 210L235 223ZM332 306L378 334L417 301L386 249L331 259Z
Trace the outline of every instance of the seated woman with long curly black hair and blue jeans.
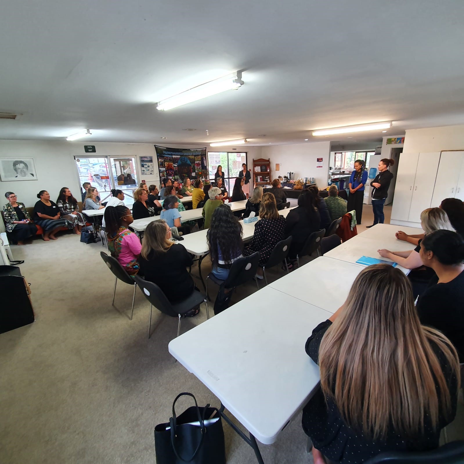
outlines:
M209 257L213 263L213 274L221 280L226 280L232 263L242 257L243 251L242 225L233 215L230 206L218 206L211 217L211 224L206 235ZM219 287L218 296L214 302L214 314L224 311L229 306L232 290Z

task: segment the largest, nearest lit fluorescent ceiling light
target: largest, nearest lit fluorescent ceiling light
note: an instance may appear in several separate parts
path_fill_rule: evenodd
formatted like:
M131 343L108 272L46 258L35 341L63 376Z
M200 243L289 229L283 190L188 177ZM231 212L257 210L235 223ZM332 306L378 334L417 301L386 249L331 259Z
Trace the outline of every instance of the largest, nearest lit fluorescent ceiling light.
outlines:
M206 82L206 84L197 85L192 89L174 95L173 97L166 98L158 102L157 110L167 111L177 108L178 106L186 105L187 103L196 102L202 98L211 97L226 90L237 90L244 84L242 81L242 72L237 71L228 76L219 77L213 81Z

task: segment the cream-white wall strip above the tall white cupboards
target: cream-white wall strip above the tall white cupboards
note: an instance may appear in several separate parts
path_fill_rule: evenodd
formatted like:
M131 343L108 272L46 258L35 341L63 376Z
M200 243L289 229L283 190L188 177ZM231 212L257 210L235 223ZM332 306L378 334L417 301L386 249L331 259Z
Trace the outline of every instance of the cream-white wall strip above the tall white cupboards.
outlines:
M464 125L406 130L403 151L426 153L464 149Z

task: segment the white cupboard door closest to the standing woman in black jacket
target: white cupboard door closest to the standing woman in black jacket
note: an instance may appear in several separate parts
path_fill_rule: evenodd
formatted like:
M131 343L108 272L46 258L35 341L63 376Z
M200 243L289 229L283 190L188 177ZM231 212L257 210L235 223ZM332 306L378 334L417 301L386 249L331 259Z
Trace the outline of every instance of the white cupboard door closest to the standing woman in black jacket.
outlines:
M401 153L396 177L395 196L393 198L392 219L398 221L409 220L412 187L416 177L419 153Z

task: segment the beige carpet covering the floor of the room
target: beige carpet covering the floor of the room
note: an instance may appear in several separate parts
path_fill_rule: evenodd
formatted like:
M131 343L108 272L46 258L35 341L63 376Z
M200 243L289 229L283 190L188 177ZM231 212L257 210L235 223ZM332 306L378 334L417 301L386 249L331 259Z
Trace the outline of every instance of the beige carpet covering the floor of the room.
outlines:
M100 258L102 250L74 235L12 246L14 258L25 260L20 268L32 284L36 321L0 335L2 464L155 463L153 429L168 420L178 393L191 392L200 404L219 407L168 354L175 319L155 310L148 340L149 305L139 290L132 321L131 287L119 283L116 308L111 306L114 278ZM202 268L204 275L211 269L207 258ZM193 275L197 272L194 267ZM268 276L274 280L282 273L271 270ZM253 283L240 288L233 302L255 288ZM215 291L211 294L214 298ZM183 319L181 332L205 319L204 309ZM205 349L214 349L220 335L211 334ZM180 402L179 410L187 406ZM226 423L224 431L229 464L256 462ZM305 445L298 414L275 444L260 449L266 464L312 463Z

